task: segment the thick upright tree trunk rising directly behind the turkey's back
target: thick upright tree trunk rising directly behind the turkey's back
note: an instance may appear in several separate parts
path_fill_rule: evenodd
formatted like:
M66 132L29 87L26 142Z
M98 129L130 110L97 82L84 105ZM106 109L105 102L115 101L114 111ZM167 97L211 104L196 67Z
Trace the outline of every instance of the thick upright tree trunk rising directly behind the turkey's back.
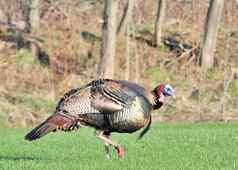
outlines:
M104 8L104 23L102 26L101 61L97 78L113 78L114 58L116 51L118 0L106 0Z

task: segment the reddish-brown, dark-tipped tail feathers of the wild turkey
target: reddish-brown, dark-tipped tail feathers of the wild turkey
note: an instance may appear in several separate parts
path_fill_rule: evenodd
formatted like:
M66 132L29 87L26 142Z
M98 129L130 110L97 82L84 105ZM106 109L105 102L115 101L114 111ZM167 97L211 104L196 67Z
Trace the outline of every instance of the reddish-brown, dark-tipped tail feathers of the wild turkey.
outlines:
M30 131L25 136L25 139L29 141L36 140L56 130L70 131L75 127L78 128L77 123L78 120L74 116L63 112L55 113L46 121Z

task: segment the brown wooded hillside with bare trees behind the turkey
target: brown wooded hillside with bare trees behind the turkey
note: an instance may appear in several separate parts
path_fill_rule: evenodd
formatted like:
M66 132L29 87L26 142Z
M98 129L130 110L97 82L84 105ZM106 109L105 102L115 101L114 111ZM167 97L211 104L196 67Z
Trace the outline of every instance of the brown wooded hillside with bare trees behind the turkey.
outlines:
M0 0L0 122L30 126L95 78L175 87L160 121L235 121L235 0Z

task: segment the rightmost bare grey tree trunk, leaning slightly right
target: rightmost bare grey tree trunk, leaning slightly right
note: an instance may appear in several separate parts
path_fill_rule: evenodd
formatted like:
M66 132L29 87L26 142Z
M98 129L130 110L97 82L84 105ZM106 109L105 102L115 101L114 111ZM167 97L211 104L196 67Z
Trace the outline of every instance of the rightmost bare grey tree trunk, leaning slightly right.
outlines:
M224 0L210 0L200 56L200 65L202 65L204 69L212 68L214 64L214 52L223 6Z

